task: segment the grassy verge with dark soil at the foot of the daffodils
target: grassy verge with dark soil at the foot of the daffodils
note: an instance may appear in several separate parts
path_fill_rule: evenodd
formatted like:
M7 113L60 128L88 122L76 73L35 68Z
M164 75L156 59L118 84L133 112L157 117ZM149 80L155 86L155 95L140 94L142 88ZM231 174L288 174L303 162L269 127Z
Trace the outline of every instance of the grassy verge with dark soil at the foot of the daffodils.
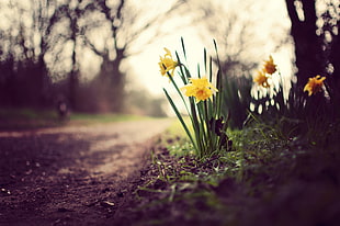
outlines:
M257 117L243 129L228 134L234 149L205 161L185 147L190 144L185 136L162 137L146 170L149 174L143 176L144 183L135 191L139 208L134 213L139 213L139 225L156 218L160 225L337 223L336 207L321 211L318 205L339 205L335 192L340 189L339 152L285 139L276 127ZM324 199L324 193L313 188L326 189L330 196ZM317 200L322 203L299 208L302 203ZM291 208L301 216L319 214L315 219L292 218Z

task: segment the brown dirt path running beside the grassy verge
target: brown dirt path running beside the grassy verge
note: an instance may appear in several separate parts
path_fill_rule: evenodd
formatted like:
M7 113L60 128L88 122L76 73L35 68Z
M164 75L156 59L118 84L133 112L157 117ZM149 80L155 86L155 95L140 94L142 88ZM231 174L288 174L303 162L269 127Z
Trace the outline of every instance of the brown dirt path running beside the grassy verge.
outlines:
M171 122L0 133L0 225L111 225Z

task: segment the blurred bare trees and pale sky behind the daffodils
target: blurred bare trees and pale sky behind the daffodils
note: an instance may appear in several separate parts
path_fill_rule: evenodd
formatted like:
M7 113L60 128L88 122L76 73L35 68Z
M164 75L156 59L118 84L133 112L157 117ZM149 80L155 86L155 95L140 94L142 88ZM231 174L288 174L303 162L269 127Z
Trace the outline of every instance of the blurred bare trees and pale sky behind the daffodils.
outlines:
M158 77L158 56L169 46L157 41L179 42L184 34L190 43L185 27L204 45L217 41L234 126L257 97L253 70L273 53L285 59L277 64L284 90L327 76L328 95L339 103L337 0L0 0L0 105L55 109L63 102L75 112L167 115L163 98L132 82L151 77L131 77L127 68L147 67L145 50L156 46L149 71ZM144 59L128 60L136 56Z

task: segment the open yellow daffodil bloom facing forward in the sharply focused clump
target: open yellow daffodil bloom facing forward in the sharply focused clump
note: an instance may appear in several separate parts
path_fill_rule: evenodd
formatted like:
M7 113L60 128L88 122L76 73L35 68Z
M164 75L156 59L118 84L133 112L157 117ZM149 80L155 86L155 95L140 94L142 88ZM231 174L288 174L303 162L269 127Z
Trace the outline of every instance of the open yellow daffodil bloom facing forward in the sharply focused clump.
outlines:
M186 97L195 97L196 101L205 101L213 95L213 92L218 90L207 80L207 78L190 78L189 84L182 87Z

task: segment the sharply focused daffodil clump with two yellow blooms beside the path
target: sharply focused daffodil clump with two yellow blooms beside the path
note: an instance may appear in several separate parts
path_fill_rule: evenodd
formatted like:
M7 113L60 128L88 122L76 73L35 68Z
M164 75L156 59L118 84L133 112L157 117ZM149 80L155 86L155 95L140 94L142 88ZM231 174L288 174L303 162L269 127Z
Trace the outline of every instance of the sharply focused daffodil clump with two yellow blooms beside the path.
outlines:
M184 43L182 39L183 54L185 56ZM166 97L172 106L175 115L180 120L184 131L192 142L193 149L199 158L204 158L212 155L214 151L220 151L230 148L230 140L226 135L227 123L225 116L222 115L222 75L213 76L213 70L207 69L207 65L212 67L211 61L207 64L206 52L204 52L204 65L206 77L201 77L200 71L197 76L192 77L188 67L181 64L179 55L177 54L177 60L173 60L172 55L168 48L165 48L166 54L160 57L158 66L162 76L167 75L170 82L175 88L179 97L183 101L186 110L186 114L190 117L191 126L188 126L183 120L181 112L177 108L172 98L166 89L163 89ZM217 46L215 43L215 50L217 55ZM218 59L218 56L217 56ZM218 64L219 66L219 64ZM174 78L174 70L179 68L178 76L182 80L183 86L181 88L177 84L177 77ZM218 70L220 71L220 70ZM213 78L217 80L216 87L213 86ZM186 98L185 98L186 97ZM190 129L192 127L192 129Z

